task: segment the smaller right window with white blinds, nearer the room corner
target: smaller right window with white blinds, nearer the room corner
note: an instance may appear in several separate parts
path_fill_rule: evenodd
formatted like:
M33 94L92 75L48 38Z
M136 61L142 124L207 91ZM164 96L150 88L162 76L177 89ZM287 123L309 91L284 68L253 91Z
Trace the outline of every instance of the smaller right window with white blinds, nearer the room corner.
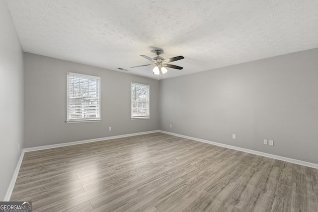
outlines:
M150 118L149 85L131 83L131 118Z

